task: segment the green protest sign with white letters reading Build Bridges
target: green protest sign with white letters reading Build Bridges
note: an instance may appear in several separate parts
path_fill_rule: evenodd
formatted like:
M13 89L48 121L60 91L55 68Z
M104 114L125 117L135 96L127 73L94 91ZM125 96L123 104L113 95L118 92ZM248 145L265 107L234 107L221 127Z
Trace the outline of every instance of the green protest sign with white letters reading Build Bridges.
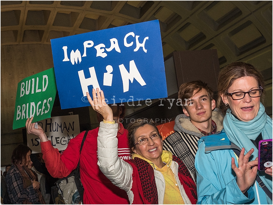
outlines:
M29 76L18 83L13 129L24 127L26 119L37 122L51 117L56 96L54 68Z

